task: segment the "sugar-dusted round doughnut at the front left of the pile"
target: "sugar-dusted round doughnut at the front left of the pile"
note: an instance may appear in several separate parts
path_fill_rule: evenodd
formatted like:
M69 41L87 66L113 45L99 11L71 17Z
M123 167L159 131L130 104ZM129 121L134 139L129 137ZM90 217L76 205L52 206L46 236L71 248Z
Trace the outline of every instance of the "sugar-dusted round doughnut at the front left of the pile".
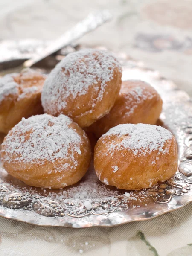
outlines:
M91 157L86 133L67 116L23 118L3 140L6 171L30 186L63 188L87 172Z

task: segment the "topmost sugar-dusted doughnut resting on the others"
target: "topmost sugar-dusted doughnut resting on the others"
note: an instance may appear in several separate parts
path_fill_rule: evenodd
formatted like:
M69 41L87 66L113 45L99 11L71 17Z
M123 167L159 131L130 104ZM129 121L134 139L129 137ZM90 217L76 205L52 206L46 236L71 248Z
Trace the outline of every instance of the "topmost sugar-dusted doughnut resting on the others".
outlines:
M87 127L113 107L122 67L108 52L85 49L67 55L47 77L41 102L53 116L64 114Z

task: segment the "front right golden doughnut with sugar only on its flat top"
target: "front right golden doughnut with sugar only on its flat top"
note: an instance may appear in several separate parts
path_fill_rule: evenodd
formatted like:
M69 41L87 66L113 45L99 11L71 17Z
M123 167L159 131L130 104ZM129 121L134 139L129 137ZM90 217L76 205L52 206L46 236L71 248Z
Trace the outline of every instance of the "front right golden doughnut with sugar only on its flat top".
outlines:
M95 146L94 166L103 183L140 190L168 180L177 171L177 144L161 126L123 124L111 128Z

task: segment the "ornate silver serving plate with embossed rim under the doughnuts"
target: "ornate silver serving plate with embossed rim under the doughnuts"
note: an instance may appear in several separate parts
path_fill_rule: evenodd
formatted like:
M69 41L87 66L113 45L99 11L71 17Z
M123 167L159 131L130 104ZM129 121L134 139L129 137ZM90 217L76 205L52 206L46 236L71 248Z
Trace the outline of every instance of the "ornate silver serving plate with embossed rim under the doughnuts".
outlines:
M41 68L51 67L78 47L68 47L57 55L42 62ZM64 54L62 55L62 52ZM26 186L21 181L0 169L0 216L41 226L61 227L111 227L131 221L143 221L183 207L192 201L192 102L190 97L159 72L143 67L125 54L117 54L123 65L123 80L140 79L149 82L163 99L163 112L159 125L168 128L175 135L179 150L177 173L164 183L139 192L126 191L105 186L94 176L90 167L87 175L75 185L77 191L86 182L95 179L96 189L102 191L99 198L92 195L91 208L82 199L62 199L66 189L38 189ZM22 54L21 56L22 57ZM2 60L1 60L2 61ZM110 196L108 196L108 194ZM51 196L50 196L51 195ZM54 195L54 197L53 197Z

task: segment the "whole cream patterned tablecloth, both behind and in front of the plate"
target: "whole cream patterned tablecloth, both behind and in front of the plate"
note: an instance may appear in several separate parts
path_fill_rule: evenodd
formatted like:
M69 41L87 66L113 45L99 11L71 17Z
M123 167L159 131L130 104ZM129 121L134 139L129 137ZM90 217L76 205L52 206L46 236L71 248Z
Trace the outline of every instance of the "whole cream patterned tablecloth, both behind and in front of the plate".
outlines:
M80 42L127 52L192 95L192 0L1 0L0 39L53 39L88 12L108 23ZM35 227L0 218L2 256L191 256L192 204L113 228Z

